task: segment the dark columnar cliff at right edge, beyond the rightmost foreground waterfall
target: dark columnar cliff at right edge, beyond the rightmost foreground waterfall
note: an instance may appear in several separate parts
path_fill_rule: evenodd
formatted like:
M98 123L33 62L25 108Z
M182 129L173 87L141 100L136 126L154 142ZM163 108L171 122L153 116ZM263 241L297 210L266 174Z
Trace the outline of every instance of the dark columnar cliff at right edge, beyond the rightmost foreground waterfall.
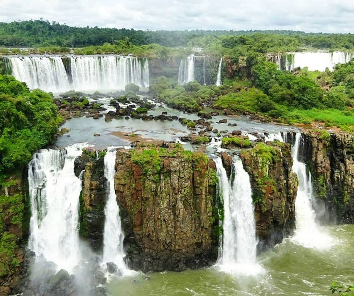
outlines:
M315 207L321 209L324 203L327 210L316 211L319 218L354 223L354 137L344 132L304 130L299 151L312 174Z

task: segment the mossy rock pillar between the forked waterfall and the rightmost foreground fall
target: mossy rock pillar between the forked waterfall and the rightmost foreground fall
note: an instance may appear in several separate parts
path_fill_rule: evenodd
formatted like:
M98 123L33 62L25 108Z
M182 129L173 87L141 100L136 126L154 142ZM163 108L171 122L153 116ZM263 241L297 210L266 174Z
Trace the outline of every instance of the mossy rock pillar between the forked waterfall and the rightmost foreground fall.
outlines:
M240 158L250 175L258 250L262 250L281 242L295 227L298 180L292 171L290 145L257 143L242 150Z

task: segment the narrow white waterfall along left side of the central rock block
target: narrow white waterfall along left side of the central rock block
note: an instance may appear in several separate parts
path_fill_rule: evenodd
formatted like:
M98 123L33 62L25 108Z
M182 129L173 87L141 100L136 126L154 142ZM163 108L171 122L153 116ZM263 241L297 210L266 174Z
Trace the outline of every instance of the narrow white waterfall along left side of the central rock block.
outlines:
M107 179L107 203L104 209L105 223L103 234L103 262L114 262L120 271L126 269L123 251L123 231L119 216L119 207L114 190L116 150L108 148L104 155L104 176Z

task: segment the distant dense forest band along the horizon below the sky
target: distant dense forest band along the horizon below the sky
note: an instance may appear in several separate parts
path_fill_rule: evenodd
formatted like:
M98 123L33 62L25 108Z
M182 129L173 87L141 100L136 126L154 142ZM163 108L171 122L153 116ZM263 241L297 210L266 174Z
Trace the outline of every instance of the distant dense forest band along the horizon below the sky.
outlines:
M301 31L221 31L221 30L185 30L185 31L149 31L134 29L98 28L86 26L84 28L49 22L48 20L25 20L11 23L0 23L0 46L32 47L32 46L61 46L83 47L97 46L105 42L113 44L116 40L129 38L133 45L147 45L157 43L161 46L209 46L212 43L225 43L221 36L231 35L231 42L223 44L225 47L235 43L248 43L247 40L263 43L278 43L281 46L313 47L326 49L354 48L352 34L324 34L304 33ZM241 37L239 37L241 36ZM275 42L276 41L276 42ZM275 43L274 43L275 42ZM262 42L259 46L263 46Z

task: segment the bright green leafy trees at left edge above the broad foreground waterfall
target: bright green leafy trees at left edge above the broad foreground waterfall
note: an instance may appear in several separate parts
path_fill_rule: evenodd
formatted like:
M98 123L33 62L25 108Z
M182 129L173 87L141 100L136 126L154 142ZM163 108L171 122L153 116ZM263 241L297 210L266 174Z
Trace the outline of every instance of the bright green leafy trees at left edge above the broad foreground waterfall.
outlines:
M53 140L60 120L50 95L1 75L0 176L22 170L36 150Z

